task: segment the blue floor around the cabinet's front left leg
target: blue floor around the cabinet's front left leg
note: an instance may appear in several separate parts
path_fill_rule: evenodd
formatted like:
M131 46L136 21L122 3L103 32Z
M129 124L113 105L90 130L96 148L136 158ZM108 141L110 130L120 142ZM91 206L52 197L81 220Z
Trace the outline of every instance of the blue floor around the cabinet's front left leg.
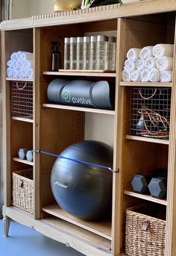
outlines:
M83 256L62 243L43 236L32 228L10 222L9 237L4 237L0 219L1 256Z

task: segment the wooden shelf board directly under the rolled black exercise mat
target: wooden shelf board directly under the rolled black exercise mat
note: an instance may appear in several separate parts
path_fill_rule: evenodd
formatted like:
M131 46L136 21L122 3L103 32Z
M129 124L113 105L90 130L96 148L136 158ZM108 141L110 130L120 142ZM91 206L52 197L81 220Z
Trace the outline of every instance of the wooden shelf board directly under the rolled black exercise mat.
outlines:
M98 108L91 108L91 107L75 107L69 105L60 105L60 104L43 104L43 107L51 107L51 108L58 108L64 110L75 110L75 111L83 111L83 112L91 112L91 113L104 113L108 115L114 115L114 110L105 110L105 109L98 109Z

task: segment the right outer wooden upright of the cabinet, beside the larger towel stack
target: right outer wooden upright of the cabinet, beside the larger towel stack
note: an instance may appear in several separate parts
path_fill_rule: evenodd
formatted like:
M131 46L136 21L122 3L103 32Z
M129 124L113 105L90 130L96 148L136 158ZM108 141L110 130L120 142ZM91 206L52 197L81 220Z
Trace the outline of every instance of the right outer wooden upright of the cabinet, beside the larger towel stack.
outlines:
M175 28L175 53L176 65L176 28ZM170 124L168 187L167 187L167 216L166 216L166 256L176 255L176 69L173 69L172 110Z

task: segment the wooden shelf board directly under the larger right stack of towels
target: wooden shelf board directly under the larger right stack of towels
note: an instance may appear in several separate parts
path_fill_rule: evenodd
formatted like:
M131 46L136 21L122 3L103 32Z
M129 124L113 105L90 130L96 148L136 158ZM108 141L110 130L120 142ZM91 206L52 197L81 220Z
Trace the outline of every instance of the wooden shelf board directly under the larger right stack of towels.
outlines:
M122 87L172 87L172 83L151 82L120 82Z

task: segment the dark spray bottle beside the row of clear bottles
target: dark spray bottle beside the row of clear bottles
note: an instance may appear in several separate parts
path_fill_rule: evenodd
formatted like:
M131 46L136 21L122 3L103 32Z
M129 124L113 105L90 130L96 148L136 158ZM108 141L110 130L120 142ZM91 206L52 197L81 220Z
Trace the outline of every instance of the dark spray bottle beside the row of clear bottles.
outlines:
M59 42L51 42L51 71L58 71L61 65Z

